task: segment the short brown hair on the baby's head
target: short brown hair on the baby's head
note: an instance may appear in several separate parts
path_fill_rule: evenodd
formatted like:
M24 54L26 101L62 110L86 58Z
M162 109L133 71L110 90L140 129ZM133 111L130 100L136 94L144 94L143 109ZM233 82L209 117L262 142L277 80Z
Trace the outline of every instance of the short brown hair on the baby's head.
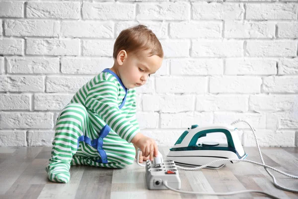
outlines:
M138 53L149 49L151 50L149 56L157 55L163 58L162 46L156 35L147 26L139 24L120 32L114 44L113 58L116 60L121 50Z

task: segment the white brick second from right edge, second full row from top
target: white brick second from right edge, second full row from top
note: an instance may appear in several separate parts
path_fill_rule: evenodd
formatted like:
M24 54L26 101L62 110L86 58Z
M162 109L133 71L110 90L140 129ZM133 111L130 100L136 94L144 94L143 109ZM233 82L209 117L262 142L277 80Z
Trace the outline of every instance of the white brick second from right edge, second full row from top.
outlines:
M225 38L274 38L275 22L225 21Z

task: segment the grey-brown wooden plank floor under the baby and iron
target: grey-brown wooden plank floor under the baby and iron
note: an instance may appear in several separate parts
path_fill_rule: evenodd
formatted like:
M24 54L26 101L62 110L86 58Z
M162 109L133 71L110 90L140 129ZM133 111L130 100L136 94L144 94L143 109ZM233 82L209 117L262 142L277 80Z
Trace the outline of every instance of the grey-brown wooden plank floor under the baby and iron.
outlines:
M168 148L159 148L163 156ZM255 147L245 147L247 159L260 162ZM261 148L267 165L298 175L298 147ZM0 147L0 199L252 199L259 194L235 196L192 196L169 190L148 190L145 169L137 164L125 169L90 166L71 167L68 184L48 181L45 167L50 147ZM298 180L272 172L280 185L298 189ZM228 164L221 170L179 171L181 190L231 192L262 190L282 199L298 199L298 194L276 189L264 168L249 163Z

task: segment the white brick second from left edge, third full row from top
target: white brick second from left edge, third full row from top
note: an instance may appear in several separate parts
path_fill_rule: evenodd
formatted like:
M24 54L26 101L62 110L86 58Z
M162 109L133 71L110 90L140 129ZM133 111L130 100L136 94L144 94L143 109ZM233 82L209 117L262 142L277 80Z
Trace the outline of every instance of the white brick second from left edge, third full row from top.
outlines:
M78 39L27 39L28 55L79 55Z

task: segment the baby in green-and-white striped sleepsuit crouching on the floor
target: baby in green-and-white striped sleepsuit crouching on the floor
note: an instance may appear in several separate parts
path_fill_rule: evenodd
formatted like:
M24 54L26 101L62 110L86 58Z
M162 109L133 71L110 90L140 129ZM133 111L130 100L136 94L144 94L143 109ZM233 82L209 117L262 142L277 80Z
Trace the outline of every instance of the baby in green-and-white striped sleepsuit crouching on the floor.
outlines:
M153 160L155 141L140 133L136 91L162 64L163 51L144 25L123 30L114 44L114 65L86 83L60 112L52 157L46 167L50 181L68 183L71 165L124 168Z

